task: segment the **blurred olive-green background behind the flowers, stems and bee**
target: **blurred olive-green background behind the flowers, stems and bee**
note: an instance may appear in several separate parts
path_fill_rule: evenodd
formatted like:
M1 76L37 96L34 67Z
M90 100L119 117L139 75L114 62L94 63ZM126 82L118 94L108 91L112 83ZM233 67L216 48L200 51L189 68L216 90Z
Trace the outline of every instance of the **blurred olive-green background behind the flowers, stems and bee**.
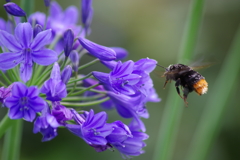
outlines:
M14 1L17 4L19 0ZM58 0L65 9L67 6L80 7L79 0ZM0 0L0 6L5 3ZM128 59L137 61L141 58L153 58L160 65L168 66L177 61L184 25L187 19L190 0L93 0L94 18L92 33L89 39L105 46L120 46L129 51ZM43 1L38 0L35 11L45 11ZM0 9L1 17L6 18L3 7ZM79 17L80 18L80 17ZM174 146L173 160L183 160L186 156L193 133L198 125L205 104L211 101L211 87L214 84L222 62L228 54L234 35L240 24L240 1L236 0L207 0L202 19L202 25L194 51L192 62L214 62L210 68L199 71L209 83L206 95L189 95L189 107L184 109L180 121L180 130ZM240 53L239 53L240 54ZM83 59L81 62L87 61ZM239 60L240 63L240 60ZM96 64L89 70L107 71L101 64ZM229 71L231 72L231 71ZM84 74L85 74L84 73ZM136 160L152 159L156 146L157 133L162 119L168 91L175 90L174 83L163 89L165 82L159 74L163 70L157 68L152 74L155 88L162 99L160 103L148 103L149 119L144 119L147 134L150 136L145 154L134 157ZM240 80L239 73L238 80ZM228 75L226 74L226 77ZM225 85L228 85L226 81ZM221 86L219 86L221 88ZM229 96L224 118L221 120L220 133L212 145L207 160L237 160L240 159L240 85ZM222 90L224 92L224 90ZM177 95L177 93L176 93ZM179 107L184 107L183 105ZM87 108L90 109L90 108ZM100 111L98 106L94 110ZM6 113L1 108L0 117ZM108 122L123 120L115 110L107 111ZM211 119L209 119L211 121ZM33 124L24 122L21 145L21 160L75 160L75 159L104 159L121 160L120 154L115 151L97 153L83 140L74 136L66 129L59 129L58 136L50 142L41 142L41 134L32 133ZM2 150L0 140L0 154ZM161 153L161 150L158 151Z

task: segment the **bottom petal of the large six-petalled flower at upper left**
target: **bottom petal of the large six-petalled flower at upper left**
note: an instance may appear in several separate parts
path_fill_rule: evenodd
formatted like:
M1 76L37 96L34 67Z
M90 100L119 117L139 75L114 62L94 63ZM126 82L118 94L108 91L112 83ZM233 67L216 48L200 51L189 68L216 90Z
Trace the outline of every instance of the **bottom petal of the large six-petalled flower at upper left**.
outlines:
M32 77L32 61L20 64L20 77L23 82L27 82Z

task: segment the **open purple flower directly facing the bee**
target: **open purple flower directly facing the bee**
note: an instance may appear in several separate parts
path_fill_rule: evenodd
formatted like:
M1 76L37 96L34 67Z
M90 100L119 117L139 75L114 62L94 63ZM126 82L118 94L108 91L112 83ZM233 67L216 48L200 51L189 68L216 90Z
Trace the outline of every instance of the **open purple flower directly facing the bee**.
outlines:
M124 63L118 61L117 64L110 62L108 68L112 68L112 71L109 74L94 71L93 76L116 93L135 95L140 91L148 96L147 93L153 87L149 73L156 67L156 63L148 58L135 63L131 60Z

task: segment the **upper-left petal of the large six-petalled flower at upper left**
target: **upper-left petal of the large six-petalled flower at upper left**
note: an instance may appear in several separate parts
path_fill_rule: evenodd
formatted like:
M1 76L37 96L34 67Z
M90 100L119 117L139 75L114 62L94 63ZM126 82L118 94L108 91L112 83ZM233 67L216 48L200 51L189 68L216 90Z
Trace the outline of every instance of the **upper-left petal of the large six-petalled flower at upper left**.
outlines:
M0 30L0 42L10 51L19 52L22 50L22 46L16 38L6 31Z

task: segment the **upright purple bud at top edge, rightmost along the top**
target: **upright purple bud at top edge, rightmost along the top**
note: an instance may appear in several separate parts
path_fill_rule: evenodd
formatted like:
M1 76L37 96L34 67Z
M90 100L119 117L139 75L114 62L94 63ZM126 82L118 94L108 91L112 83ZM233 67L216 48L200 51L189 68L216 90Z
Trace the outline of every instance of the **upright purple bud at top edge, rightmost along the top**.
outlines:
M88 30L92 23L92 17L93 17L92 0L82 0L82 23L87 33L89 33Z

